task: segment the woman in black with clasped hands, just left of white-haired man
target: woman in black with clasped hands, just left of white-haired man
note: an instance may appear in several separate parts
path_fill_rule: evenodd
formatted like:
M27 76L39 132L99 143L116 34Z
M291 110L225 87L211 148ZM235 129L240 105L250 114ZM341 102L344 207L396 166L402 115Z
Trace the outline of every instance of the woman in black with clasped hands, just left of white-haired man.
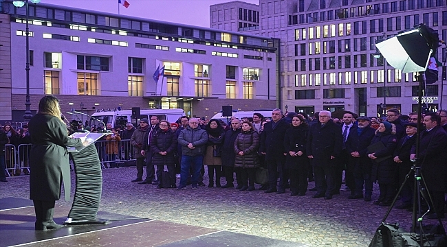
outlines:
M290 196L304 196L307 191L309 158L305 153L308 131L307 123L301 115L294 115L292 128L285 131L285 169L289 173Z

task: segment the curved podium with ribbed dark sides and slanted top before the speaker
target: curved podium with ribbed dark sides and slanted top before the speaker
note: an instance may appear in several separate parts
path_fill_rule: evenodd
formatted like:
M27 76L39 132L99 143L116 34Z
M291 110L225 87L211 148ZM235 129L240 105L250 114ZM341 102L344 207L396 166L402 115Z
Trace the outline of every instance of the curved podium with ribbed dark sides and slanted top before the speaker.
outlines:
M75 132L69 136L80 138L88 144L78 148L67 147L74 163L76 189L72 209L63 222L65 225L107 224L107 221L96 218L102 193L102 170L94 145L105 134L107 133Z

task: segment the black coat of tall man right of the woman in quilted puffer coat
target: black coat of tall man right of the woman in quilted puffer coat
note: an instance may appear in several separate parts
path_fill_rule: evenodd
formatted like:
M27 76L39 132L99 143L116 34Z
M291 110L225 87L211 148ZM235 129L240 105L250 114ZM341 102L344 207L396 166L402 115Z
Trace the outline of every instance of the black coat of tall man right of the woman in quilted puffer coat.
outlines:
M284 158L284 137L288 128L290 124L287 124L284 119L279 120L274 128L272 121L264 124L259 152L265 152L266 160Z

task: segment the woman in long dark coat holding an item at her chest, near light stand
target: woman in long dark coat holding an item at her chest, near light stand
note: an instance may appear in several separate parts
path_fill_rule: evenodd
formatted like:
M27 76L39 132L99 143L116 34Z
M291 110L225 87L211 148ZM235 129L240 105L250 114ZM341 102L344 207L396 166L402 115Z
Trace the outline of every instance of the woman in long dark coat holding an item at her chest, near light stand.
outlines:
M367 152L368 157L373 163L373 170L371 172L371 180L379 183L380 196L373 204L380 206L389 206L393 202L396 189L396 173L397 165L393 161L393 153L397 147L397 137L395 136L395 125L387 121L379 124L375 131L375 137L371 140L371 145L382 142L384 148L376 150L375 152ZM385 158L386 157L386 158ZM377 162L375 159L383 161Z

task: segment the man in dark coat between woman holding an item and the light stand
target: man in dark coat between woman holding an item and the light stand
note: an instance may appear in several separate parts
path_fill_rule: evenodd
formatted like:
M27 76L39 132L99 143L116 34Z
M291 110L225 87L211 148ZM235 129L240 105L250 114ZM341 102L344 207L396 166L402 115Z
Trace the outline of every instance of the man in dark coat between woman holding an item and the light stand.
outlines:
M417 124L412 122L405 124L406 136L397 143L397 148L394 151L394 162L397 163L397 172L399 174L399 185L404 183L406 174L410 172L413 162L410 161L411 147L416 141ZM413 173L412 173L413 174ZM402 191L400 192L400 199L402 204L397 206L397 209L408 209L413 202L413 175L410 175L406 180Z

